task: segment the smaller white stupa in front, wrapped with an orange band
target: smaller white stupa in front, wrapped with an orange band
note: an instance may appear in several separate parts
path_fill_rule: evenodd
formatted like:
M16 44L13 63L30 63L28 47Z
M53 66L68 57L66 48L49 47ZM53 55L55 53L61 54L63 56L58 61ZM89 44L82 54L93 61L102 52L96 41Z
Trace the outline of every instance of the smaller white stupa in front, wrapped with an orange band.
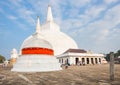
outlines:
M12 71L45 72L61 70L60 63L54 57L52 45L40 34L39 17L36 32L27 38L21 46L21 55Z

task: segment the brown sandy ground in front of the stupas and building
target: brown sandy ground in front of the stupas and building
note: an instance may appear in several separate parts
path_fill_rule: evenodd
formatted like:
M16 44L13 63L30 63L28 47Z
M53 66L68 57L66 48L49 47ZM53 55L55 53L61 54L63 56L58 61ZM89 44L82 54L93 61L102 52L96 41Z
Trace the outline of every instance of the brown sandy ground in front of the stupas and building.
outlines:
M70 66L54 72L19 73L0 67L0 85L120 85L120 64L110 81L109 64Z

